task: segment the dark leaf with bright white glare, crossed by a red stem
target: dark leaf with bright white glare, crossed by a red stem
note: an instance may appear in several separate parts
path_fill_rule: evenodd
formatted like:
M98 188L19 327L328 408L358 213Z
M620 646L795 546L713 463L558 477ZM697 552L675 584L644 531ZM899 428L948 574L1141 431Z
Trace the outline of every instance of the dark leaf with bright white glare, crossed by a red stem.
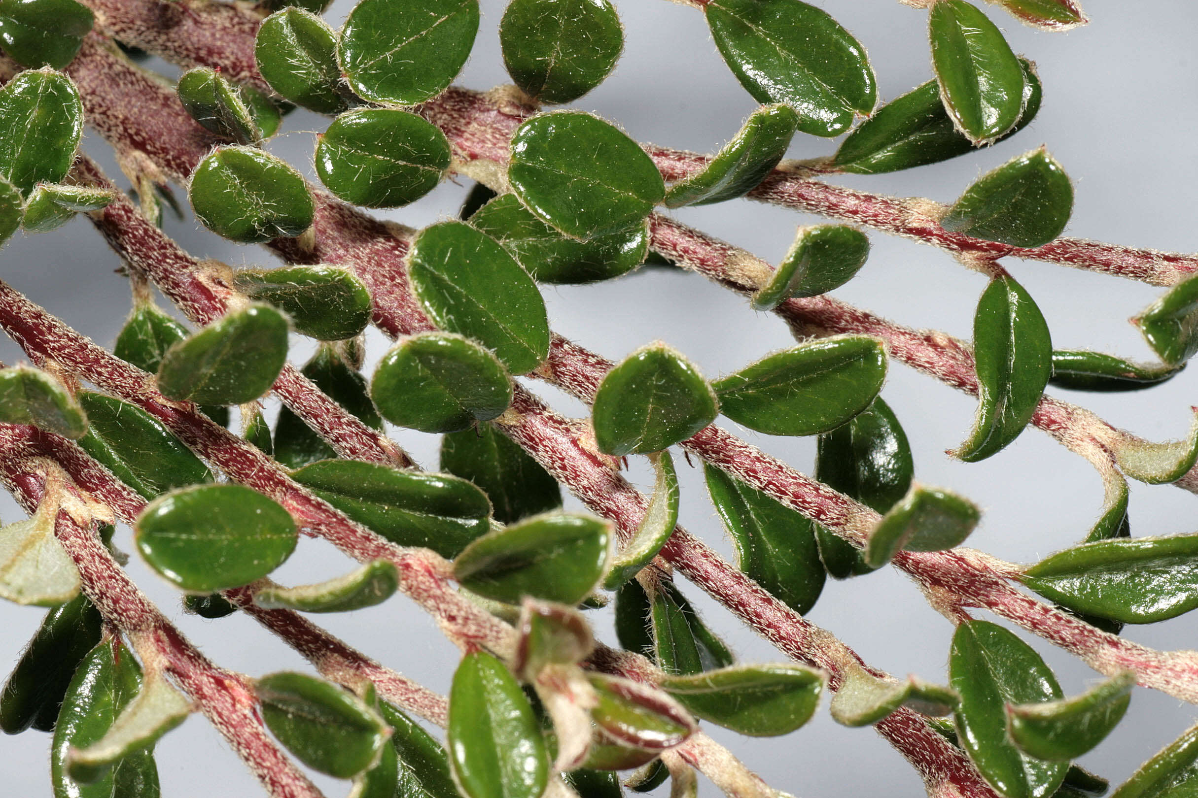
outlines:
M848 424L819 435L816 479L851 499L885 513L907 495L914 463L898 419L882 397ZM819 559L835 579L873 571L860 549L815 524Z

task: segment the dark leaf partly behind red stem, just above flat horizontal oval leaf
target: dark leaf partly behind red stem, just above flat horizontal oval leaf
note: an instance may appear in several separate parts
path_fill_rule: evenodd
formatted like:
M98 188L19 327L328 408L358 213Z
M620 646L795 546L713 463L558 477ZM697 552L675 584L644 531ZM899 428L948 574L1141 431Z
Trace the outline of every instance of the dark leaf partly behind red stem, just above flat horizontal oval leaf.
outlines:
M143 498L212 481L204 462L138 406L92 391L77 398L90 421L79 445Z

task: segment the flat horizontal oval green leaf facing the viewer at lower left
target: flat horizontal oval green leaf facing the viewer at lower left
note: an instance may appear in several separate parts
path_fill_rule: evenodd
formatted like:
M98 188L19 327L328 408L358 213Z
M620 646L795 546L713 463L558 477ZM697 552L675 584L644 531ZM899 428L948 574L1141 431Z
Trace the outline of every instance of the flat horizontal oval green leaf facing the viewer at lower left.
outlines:
M188 592L248 585L291 556L296 524L277 501L241 485L168 493L138 517L134 541L145 561Z

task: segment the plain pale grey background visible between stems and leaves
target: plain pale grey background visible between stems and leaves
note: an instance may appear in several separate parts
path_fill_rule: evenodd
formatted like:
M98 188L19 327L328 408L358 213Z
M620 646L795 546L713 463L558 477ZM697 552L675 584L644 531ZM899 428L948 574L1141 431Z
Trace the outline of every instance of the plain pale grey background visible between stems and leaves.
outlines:
M822 4L869 48L883 99L927 80L931 71L925 13L894 0ZM615 74L576 103L618 121L635 139L709 152L739 127L755 106L722 65L703 17L659 0L617 0L627 28L627 47ZM339 1L328 13L339 24L350 4ZM483 0L478 44L459 83L486 89L506 75L496 26L500 0ZM1039 65L1045 103L1036 122L1014 140L945 164L891 176L842 178L845 184L898 195L951 201L979 173L1046 142L1076 182L1077 205L1069 233L1166 250L1193 250L1196 169L1193 129L1198 96L1193 91L1193 32L1198 5L1186 0L1117 2L1091 0L1088 28L1070 33L1041 33L1023 28L994 6L992 18L1006 31L1016 51ZM170 74L170 68L165 68ZM310 166L313 132L326 122L297 112L271 145L291 163ZM799 136L791 156L806 158L834 150L834 142ZM95 134L85 142L111 175L117 175L105 145ZM465 190L447 182L412 207L387 214L412 226L453 215ZM794 227L812 218L746 201L678 212L678 218L776 262L787 250ZM231 264L268 263L265 251L235 246L193 220L171 220L169 232L195 255ZM984 286L980 275L956 266L946 255L912 242L872 234L873 254L852 284L836 296L898 322L946 330L968 339L973 306ZM0 275L36 301L95 340L109 345L128 307L128 288L114 274L115 256L92 229L75 220L47 236L18 237L0 255ZM1043 263L1011 262L1010 270L1036 297L1058 347L1088 347L1148 359L1149 353L1125 319L1149 304L1160 290L1114 278L1067 270ZM545 287L555 328L613 359L654 339L678 347L709 376L734 370L776 348L791 345L783 325L752 312L745 300L701 278L653 270L589 287ZM375 333L370 357L386 342ZM309 348L296 341L292 358L302 363ZM16 363L11 342L0 343L0 359ZM1182 373L1168 385L1138 395L1063 396L1078 401L1113 424L1150 439L1184 435L1198 372ZM573 400L544 384L533 390L559 409L583 415ZM969 428L973 401L934 380L895 365L884 396L906 425L916 456L916 476L976 500L985 510L972 544L1014 561L1035 561L1081 538L1101 505L1101 485L1084 461L1046 435L1029 431L1009 450L984 463L962 464L943 452L956 446ZM271 408L273 415L274 408ZM410 431L397 439L428 468L435 468L437 440ZM811 439L745 435L800 470L810 470ZM637 467L634 477L651 482ZM726 555L731 547L703 491L697 470L682 469L683 522ZM1193 531L1196 499L1169 486L1132 488L1133 534ZM573 506L577 502L570 500ZM18 511L5 497L0 516L16 520ZM116 538L131 550L128 530ZM325 543L304 540L297 555L279 572L283 583L298 584L334 575L350 562ZM204 621L184 616L177 595L149 573L134 556L129 569L184 633L225 666L260 675L304 664L248 619ZM684 586L685 587L685 586ZM755 638L695 589L709 622L746 662L768 662L778 652ZM14 662L42 617L42 610L0 604L0 663ZM829 584L810 617L831 629L869 662L895 674L916 672L943 680L951 626L927 608L914 586L894 569L849 583ZM429 687L446 690L456 651L411 602L385 605L320 622L351 644ZM597 616L601 638L612 641L610 617ZM1131 627L1129 639L1157 648L1193 647L1198 623L1182 617L1150 627ZM1030 635L1024 639L1058 669L1066 693L1077 693L1095 674ZM1114 784L1144 759L1172 741L1194 717L1192 707L1158 693L1137 690L1131 711L1112 738L1083 763ZM909 766L871 730L849 730L821 713L789 736L752 741L714 730L745 762L774 786L794 796L922 793ZM49 738L37 732L0 739L0 793L18 798L48 796ZM202 718L193 718L158 745L163 794L171 798L258 796L256 782ZM329 796L346 782L322 776ZM701 787L714 796L709 784Z

